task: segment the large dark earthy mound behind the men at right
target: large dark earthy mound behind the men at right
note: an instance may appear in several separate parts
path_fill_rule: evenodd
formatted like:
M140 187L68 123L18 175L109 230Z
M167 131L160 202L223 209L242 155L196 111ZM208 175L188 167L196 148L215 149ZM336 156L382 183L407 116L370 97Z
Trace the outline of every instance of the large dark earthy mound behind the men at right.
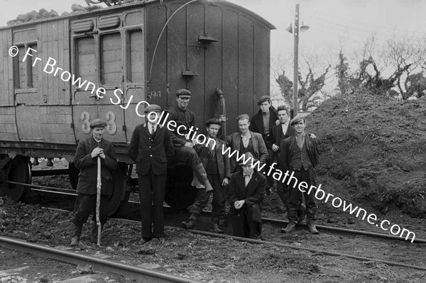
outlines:
M425 109L425 98L352 94L324 101L307 124L320 145L317 182L381 213L426 217Z

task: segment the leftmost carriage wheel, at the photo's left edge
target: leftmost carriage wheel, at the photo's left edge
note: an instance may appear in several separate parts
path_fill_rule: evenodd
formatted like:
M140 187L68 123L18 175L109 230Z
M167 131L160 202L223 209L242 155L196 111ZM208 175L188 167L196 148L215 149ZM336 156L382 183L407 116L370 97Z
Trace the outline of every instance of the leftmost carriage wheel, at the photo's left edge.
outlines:
M1 159L7 157L2 155ZM16 155L8 165L6 172L6 181L31 184L31 165L30 158L22 155ZM0 194L10 196L13 201L21 201L30 191L30 187L23 184L0 184Z

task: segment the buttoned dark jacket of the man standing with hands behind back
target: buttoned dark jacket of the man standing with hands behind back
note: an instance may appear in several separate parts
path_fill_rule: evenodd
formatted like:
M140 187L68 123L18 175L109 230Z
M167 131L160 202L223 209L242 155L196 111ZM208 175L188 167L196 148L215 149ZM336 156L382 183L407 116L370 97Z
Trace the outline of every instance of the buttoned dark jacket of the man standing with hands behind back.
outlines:
M166 174L167 164L173 160L172 135L167 128L157 125L154 138L146 124L136 126L131 135L129 157L136 163L136 173L146 175L153 167L155 175Z

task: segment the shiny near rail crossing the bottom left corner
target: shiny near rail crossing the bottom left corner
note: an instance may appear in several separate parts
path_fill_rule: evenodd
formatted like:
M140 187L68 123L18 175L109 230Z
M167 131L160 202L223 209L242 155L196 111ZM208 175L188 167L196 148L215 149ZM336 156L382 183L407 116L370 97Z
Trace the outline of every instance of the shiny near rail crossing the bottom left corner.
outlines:
M200 283L200 281L179 277L173 274L167 274L154 270L147 270L142 267L132 265L124 265L120 262L112 262L98 257L82 255L80 253L72 253L67 250L59 250L50 248L45 245L36 245L33 243L23 242L21 240L13 240L11 238L0 237L0 246L13 250L20 250L24 253L31 253L40 257L52 258L73 265L87 265L97 268L103 272L113 272L123 275L124 277L135 279L138 282L153 282L153 283ZM142 279L142 280L141 280Z

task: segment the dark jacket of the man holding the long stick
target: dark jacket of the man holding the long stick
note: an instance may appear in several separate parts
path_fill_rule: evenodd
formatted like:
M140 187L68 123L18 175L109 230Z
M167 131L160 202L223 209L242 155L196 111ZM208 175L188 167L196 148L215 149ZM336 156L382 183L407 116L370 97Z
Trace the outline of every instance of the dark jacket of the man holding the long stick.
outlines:
M77 184L78 194L97 193L97 157L92 158L92 151L97 146L98 143L92 135L85 140L80 140L77 145L74 164L80 170ZM102 148L105 154L105 159L101 158L101 194L111 195L114 191L111 171L115 170L118 165L114 145L102 138L99 148Z

